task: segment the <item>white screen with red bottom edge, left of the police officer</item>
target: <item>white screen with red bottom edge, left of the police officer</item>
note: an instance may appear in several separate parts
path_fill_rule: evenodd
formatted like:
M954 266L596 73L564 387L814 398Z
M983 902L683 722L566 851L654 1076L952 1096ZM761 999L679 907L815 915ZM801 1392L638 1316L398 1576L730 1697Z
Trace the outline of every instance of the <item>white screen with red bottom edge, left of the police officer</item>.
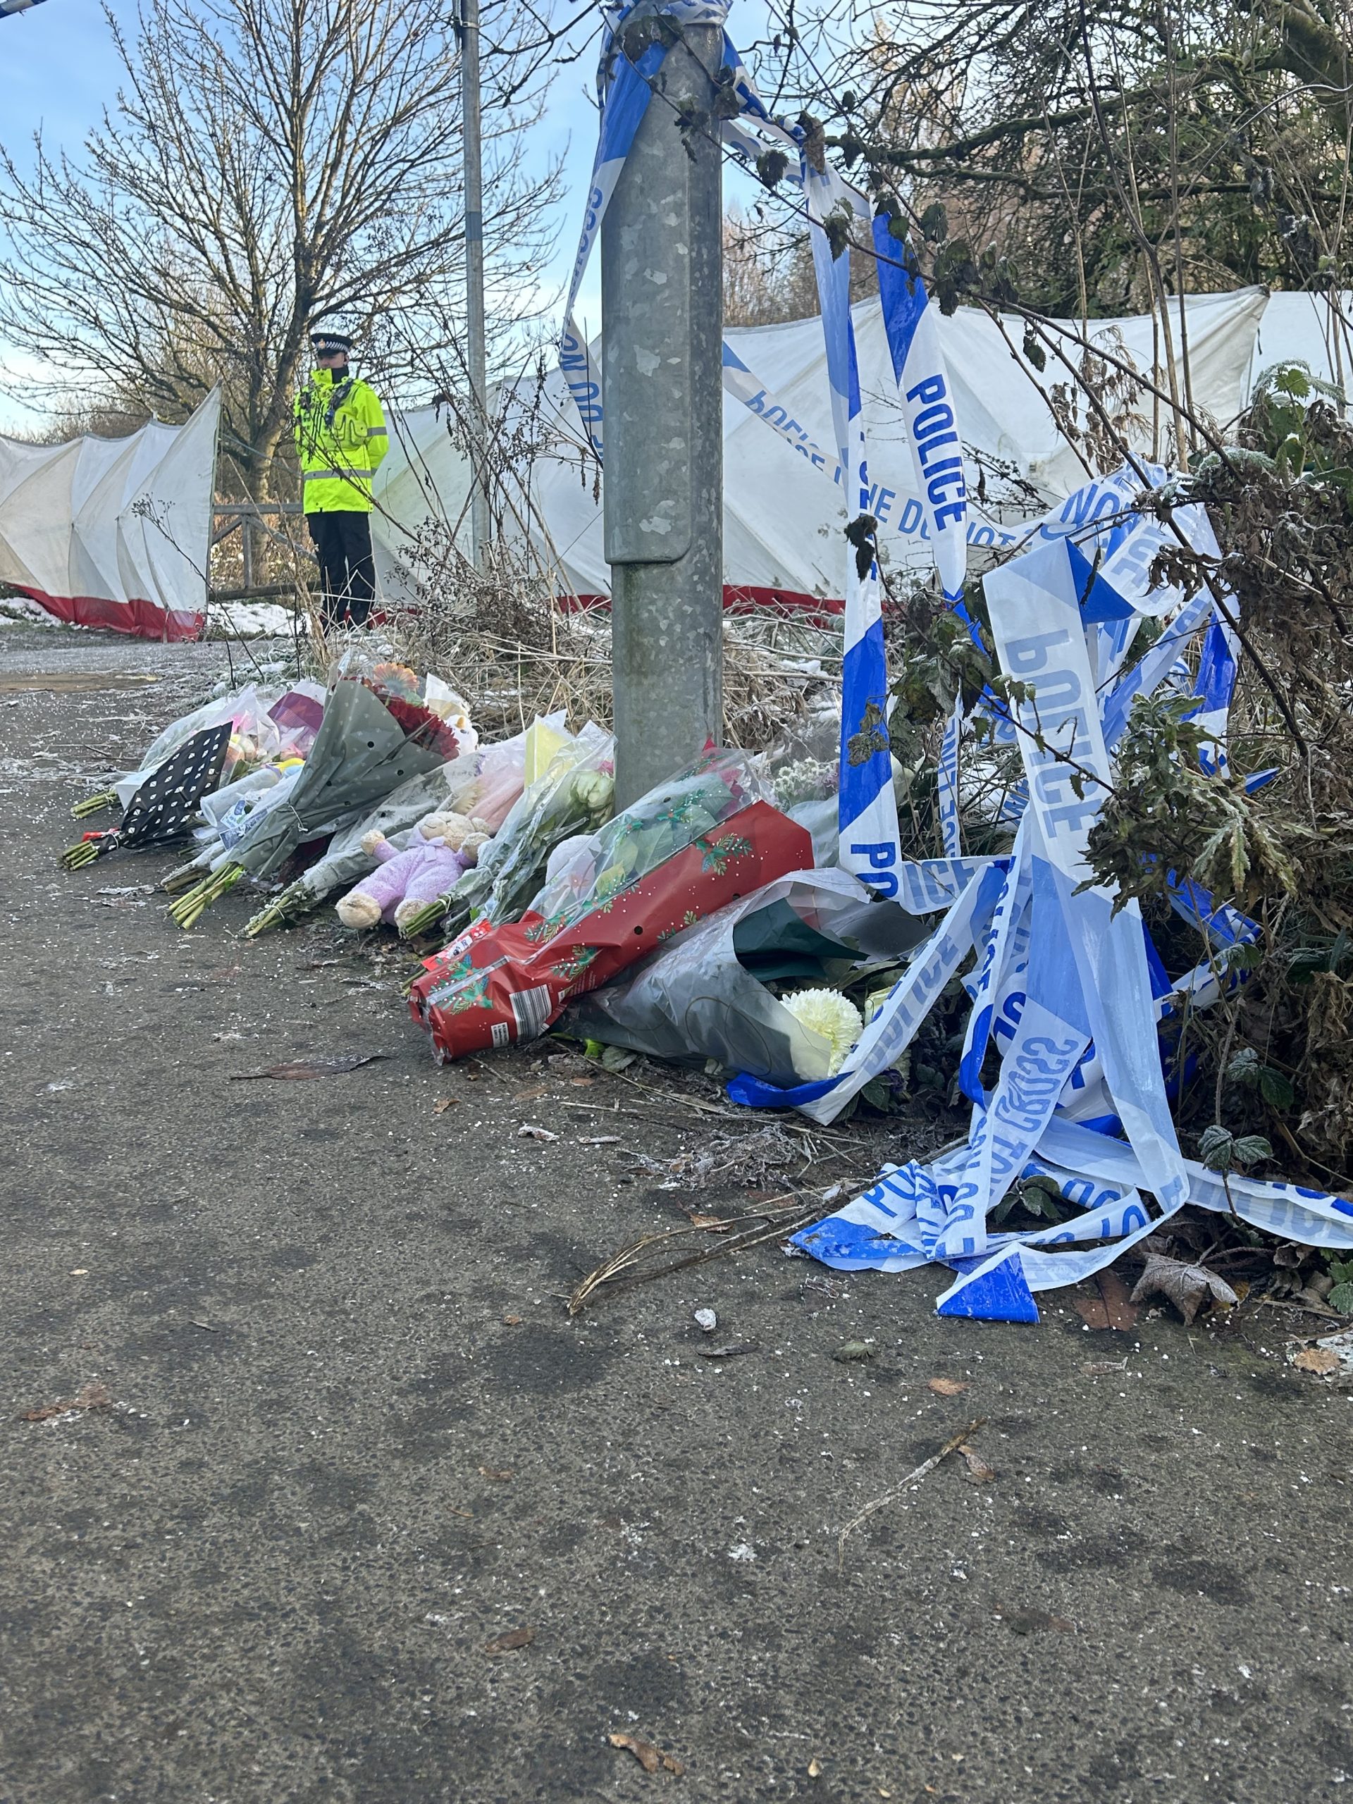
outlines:
M0 583L61 621L195 639L206 621L220 393L184 426L0 438Z

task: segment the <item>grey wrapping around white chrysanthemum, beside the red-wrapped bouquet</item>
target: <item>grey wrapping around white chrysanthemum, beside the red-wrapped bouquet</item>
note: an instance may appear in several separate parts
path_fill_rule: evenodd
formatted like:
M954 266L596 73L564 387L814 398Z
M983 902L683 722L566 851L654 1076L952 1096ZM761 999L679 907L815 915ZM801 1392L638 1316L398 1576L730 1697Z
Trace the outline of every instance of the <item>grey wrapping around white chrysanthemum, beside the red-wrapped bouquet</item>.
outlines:
M779 922L770 925L776 904L808 929L803 938ZM758 916L767 918L765 934L754 931ZM797 943L841 978L904 956L922 934L911 916L873 900L848 871L796 871L689 927L624 983L574 1001L568 1025L586 1039L658 1059L716 1059L776 1084L812 1082L830 1075L832 1048L794 1019L756 971L790 974ZM785 949L778 965L769 962L770 942ZM833 963L832 949L846 956ZM810 980L806 963L799 974Z

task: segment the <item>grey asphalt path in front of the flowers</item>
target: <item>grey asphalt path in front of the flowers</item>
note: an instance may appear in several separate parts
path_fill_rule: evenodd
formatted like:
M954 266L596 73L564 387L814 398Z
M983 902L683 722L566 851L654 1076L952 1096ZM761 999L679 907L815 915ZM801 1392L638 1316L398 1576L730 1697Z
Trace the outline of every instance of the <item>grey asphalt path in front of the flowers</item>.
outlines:
M741 1120L554 1045L438 1068L332 911L180 934L170 855L63 873L222 666L0 631L2 1804L1337 1804L1353 1400L1283 1312L938 1321L940 1274L772 1243L570 1319L747 1207L640 1160ZM851 1135L796 1180L911 1151Z

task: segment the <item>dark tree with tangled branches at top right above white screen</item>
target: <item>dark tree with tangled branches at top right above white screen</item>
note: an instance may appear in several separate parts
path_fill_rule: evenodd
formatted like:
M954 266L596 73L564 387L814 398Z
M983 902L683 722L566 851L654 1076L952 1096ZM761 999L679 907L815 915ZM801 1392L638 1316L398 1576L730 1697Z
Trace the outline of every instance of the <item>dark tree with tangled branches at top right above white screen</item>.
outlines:
M799 0L783 20L772 0L770 14L763 88L925 222L913 238L942 298L972 289L985 253L1063 316L1348 285L1351 0Z

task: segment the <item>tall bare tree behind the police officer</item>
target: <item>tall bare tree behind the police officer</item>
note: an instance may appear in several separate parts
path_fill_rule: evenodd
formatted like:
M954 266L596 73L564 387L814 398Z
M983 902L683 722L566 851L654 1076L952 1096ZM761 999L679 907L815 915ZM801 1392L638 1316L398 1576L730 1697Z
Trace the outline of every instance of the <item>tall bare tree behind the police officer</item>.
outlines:
M372 334L395 384L413 377L400 345L458 345L455 31L390 0L146 0L132 36L106 18L123 87L83 157L38 139L25 175L0 150L0 336L72 410L94 390L184 419L220 381L224 449L263 496L314 325ZM536 305L557 180L523 162L541 88L512 31L509 11L485 70L500 337Z

